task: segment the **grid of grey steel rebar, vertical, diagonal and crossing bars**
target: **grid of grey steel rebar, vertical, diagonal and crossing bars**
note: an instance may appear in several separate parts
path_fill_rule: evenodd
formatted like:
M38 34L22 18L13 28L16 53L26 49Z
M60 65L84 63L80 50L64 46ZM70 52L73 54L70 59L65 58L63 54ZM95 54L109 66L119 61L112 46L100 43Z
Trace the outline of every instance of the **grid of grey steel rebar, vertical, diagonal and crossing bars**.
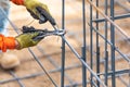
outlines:
M75 2L75 1L74 1ZM29 75L25 75L23 77L20 77L15 74L15 72L13 71L9 71L9 73L12 75L13 78L9 78L5 80L0 80L0 84L6 84L10 82L17 82L17 84L20 85L20 87L26 87L23 83L23 79L27 79L27 78L34 78L37 76L42 76L42 75L47 75L47 77L49 77L49 79L51 80L51 83L53 84L53 86L55 87L60 87L60 85L57 85L55 83L55 80L51 77L51 73L57 73L61 72L61 87L117 87L117 83L116 79L119 78L121 80L121 83L125 85L125 87L129 87L130 86L130 66L129 69L123 69L123 70L116 70L116 62L119 60L126 61L127 64L130 65L130 54L125 54L120 51L120 49L118 49L116 47L116 42L115 41L115 34L117 33L116 30L118 30L123 38L121 38L122 41L130 39L129 36L127 35L127 33L120 28L115 21L116 20L122 20L122 18L128 18L130 16L129 13L122 14L122 15L118 15L115 16L115 11L114 11L114 7L115 7L115 1L114 0L105 0L104 2L104 11L101 11L99 9L99 3L101 3L102 1L100 0L82 0L82 46L79 47L81 50L81 54L78 53L78 51L73 47L73 45L69 44L69 41L66 39L65 36L62 36L62 52L60 54L62 54L62 61L61 61L61 66L58 66L58 64L56 64L54 58L52 58L52 55L47 55L47 59L52 63L52 65L54 65L55 70L51 70L51 71L47 71L42 64L42 62L40 61L40 59L37 57L37 54L29 48L28 51L30 52L30 54L34 57L34 61L36 61L39 66L43 70L43 72L40 73L36 73L36 74L29 74ZM110 13L108 14L108 2L110 2ZM116 1L116 3L118 2L119 7L122 7L119 4L119 1ZM88 18L86 17L86 4L89 3L90 4L90 18L88 21ZM65 29L65 1L62 0L62 28ZM73 5L72 5L73 7ZM122 7L123 8L123 7ZM93 12L94 9L96 10L95 13L96 15L93 16ZM126 8L123 8L126 9ZM0 9L1 12L2 9ZM128 11L128 10L127 10ZM4 15L4 12L3 12ZM100 15L102 15L103 17L101 18ZM108 16L110 15L110 17ZM5 16L6 17L6 16ZM94 18L95 17L95 18ZM6 17L8 18L8 17ZM9 20L9 18L8 18ZM15 32L18 34L18 29L17 27L9 20L10 24L12 25L12 27L15 29ZM103 35L102 33L100 33L100 23L104 23L104 33L105 35ZM109 23L109 27L108 27L108 23ZM88 24L90 26L90 29L87 30L87 25ZM95 26L94 26L95 24ZM110 29L109 29L110 28ZM108 32L110 32L110 39L108 39ZM94 35L95 33L95 35ZM90 36L88 36L87 34L90 34ZM90 37L90 45L87 42L88 37ZM79 38L78 38L79 39ZM104 45L102 45L102 42L100 42L100 39L104 40ZM94 40L95 44L93 42ZM129 44L129 41L127 41ZM77 59L79 59L79 61L82 64L76 64L73 66L65 66L65 60L66 60L66 47L68 47L72 50L72 53L75 54L75 57ZM89 49L88 49L89 48ZM104 49L104 53L105 55L101 54L101 50L102 48ZM43 50L41 47L37 46L37 49L46 55L46 51L48 50ZM128 48L129 49L129 48ZM115 52L118 52L118 55L115 54ZM90 55L90 57L89 57ZM87 59L90 59L89 61ZM28 61L27 61L28 62ZM28 62L29 63L29 62ZM101 69L101 65L104 65L104 70ZM69 77L69 75L66 73L66 71L73 70L73 69L77 69L80 67L82 70L82 79L80 79L79 83L73 80L73 78ZM103 71L104 72L103 72ZM90 73L90 75L88 74ZM129 76L129 83L126 82L123 79L123 76ZM69 82L69 84L65 85L65 77L67 78L67 80ZM112 80L109 85L108 80ZM38 87L38 86L37 86Z

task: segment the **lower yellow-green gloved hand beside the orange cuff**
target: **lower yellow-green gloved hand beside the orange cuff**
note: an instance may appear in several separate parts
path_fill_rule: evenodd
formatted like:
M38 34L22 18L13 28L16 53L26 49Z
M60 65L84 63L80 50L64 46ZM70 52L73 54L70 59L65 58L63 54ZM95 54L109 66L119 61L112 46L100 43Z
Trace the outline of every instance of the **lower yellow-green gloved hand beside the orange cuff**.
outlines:
M34 40L32 38L37 37L38 35L39 35L38 33L25 33L16 36L15 39L18 42L16 49L23 49L23 48L36 46L41 39Z

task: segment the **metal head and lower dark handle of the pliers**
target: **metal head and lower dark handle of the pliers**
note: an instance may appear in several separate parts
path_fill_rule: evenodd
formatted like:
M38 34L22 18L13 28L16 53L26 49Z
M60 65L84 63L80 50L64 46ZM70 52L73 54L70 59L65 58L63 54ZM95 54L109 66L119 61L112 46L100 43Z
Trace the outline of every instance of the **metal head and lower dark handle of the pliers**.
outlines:
M48 29L36 29L32 26L27 27L27 26L23 26L23 33L35 33L38 32L39 35L37 37L34 38L34 40L39 40L39 39L43 39L47 36L63 36L66 32L64 29L61 30L48 30Z

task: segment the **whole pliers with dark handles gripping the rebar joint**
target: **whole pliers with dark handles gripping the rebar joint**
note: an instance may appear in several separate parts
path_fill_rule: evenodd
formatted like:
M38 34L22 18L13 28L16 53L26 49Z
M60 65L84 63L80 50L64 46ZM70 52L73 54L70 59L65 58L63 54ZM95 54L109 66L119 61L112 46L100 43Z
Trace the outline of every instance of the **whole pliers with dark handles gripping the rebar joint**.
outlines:
M64 35L66 32L65 29L58 29L55 20L41 7L37 7L36 10L40 13L40 22L42 23L44 21L44 17L50 22L50 24L53 26L54 30L48 30L48 29L35 29L34 27L27 27L24 26L23 27L23 33L34 33L34 32L38 32L39 35L35 38L32 38L34 40L39 40L42 39L47 36L62 36Z

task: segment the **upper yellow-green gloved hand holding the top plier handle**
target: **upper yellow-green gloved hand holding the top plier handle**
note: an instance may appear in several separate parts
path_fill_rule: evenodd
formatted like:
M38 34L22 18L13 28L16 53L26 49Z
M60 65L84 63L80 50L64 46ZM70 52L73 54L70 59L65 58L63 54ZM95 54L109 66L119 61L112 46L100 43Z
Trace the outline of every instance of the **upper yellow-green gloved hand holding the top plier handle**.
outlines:
M46 23L48 21L48 18L46 16L43 16L38 10L37 8L40 7L42 10L44 10L49 15L49 9L46 4L39 2L38 0L25 0L24 1L24 5L26 7L26 9L28 10L28 12L30 13L30 15L34 18L39 20L39 23ZM42 15L42 17L41 17Z

